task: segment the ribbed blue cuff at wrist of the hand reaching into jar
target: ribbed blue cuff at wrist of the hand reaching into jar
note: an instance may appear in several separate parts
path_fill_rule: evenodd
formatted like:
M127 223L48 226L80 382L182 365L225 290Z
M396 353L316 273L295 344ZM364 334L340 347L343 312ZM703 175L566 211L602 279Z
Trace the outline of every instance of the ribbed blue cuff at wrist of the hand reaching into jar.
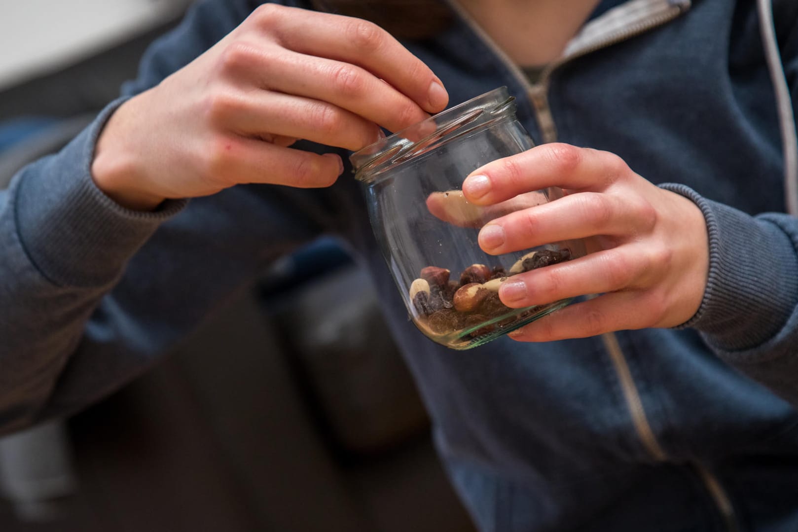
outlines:
M41 274L59 286L110 282L160 223L186 203L170 200L157 211L131 211L94 184L97 137L123 102L109 104L57 155L26 167L10 189L22 246Z

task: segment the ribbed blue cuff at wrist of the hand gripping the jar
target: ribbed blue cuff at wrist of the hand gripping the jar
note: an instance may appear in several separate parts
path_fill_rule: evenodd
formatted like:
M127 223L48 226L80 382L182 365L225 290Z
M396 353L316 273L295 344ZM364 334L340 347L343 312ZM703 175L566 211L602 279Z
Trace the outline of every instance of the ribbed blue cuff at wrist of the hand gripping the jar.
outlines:
M679 328L697 329L726 352L753 349L775 336L798 300L798 261L788 235L773 223L709 201L684 185L660 187L696 203L709 234L704 299Z

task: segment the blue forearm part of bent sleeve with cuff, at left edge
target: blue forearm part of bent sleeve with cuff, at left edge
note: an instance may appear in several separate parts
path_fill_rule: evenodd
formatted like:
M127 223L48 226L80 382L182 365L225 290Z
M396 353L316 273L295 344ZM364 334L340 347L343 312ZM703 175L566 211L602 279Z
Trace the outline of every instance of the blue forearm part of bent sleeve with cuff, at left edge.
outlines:
M132 254L182 205L142 215L93 185L93 143L114 107L0 193L2 431L38 416L93 308Z

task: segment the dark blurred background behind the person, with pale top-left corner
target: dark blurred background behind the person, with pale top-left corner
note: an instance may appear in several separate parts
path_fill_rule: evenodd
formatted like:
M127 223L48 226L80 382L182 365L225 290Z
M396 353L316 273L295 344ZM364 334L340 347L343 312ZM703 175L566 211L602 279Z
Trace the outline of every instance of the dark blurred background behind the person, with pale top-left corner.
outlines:
M0 3L0 187L113 100L188 3ZM0 530L473 530L363 286L321 239L156 370L0 439Z

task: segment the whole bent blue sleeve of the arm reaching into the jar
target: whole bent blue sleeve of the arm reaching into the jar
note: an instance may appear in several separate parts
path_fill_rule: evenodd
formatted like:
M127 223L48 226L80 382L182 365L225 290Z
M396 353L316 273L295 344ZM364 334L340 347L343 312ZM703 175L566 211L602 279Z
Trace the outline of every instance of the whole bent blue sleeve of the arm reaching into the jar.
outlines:
M192 61L250 8L194 6L148 50L126 96L0 191L0 433L74 412L131 380L267 261L334 225L334 191L234 187L140 213L91 178L97 136L124 97Z

